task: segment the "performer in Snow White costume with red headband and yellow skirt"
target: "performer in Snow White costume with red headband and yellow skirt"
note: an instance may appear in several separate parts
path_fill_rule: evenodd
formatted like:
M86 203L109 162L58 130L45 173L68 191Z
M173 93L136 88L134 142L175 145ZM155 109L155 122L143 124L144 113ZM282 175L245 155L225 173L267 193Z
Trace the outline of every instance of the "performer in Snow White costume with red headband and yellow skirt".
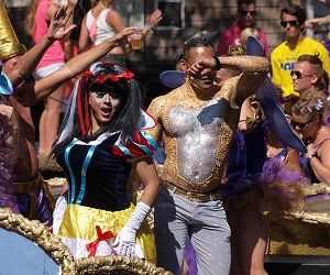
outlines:
M154 121L140 109L133 77L110 63L85 72L53 148L68 182L58 235L75 257L121 254L155 262L143 221L160 190L151 158L156 143L142 130ZM145 185L136 206L128 195L132 167Z

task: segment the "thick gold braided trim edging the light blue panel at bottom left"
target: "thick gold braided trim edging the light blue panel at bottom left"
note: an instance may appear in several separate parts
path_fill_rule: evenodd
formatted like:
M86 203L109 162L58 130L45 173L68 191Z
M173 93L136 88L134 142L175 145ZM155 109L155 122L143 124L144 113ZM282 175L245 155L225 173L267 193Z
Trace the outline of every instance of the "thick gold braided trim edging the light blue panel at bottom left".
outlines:
M22 215L13 213L9 208L0 209L0 227L16 232L36 243L61 266L63 275L77 273L74 257L61 239L52 234L48 229L37 220L29 220Z

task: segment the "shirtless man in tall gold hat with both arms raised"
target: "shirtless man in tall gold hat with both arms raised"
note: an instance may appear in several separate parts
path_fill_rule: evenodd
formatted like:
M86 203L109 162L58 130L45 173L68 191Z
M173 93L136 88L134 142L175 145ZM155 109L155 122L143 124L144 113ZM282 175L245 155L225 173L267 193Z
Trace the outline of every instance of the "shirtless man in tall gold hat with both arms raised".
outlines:
M20 123L20 152L13 170L15 175L14 189L18 194L20 211L25 217L38 219L47 226L52 224L53 199L38 173L34 125L30 107L37 100L50 95L67 80L77 76L84 68L98 61L113 46L127 44L128 36L132 34L134 30L134 28L122 30L99 46L74 57L59 70L46 78L23 82L32 74L42 54L52 42L56 38L62 38L74 28L74 25L66 28L69 16L70 11L67 11L66 8L63 7L59 8L51 22L47 35L24 55L22 55L22 52L15 51L19 44L16 36L4 46L1 45L6 51L0 52L3 62L3 72L8 75L9 79L15 84L14 94L10 97L10 103L14 108ZM1 18L0 24L6 24L7 29L12 30L8 16ZM20 65L19 68L16 68L18 65ZM12 72L15 70L18 73L13 74ZM18 84L21 85L18 86Z

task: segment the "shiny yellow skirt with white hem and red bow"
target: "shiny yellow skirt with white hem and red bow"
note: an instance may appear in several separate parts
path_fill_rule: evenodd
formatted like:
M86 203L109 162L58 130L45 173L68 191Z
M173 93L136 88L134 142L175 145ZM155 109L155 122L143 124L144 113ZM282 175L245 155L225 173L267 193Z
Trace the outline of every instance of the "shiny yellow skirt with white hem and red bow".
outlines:
M59 227L58 235L68 246L74 257L114 254L112 243L118 232L125 226L135 206L121 211L106 211L78 205L68 205ZM156 263L154 235L142 223L136 234L136 255Z

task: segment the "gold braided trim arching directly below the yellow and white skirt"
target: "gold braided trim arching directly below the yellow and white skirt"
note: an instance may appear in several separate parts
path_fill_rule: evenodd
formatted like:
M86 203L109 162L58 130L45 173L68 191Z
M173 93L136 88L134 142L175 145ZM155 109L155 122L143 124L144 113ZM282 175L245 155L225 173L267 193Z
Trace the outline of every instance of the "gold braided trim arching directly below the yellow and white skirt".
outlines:
M173 275L170 272L139 257L109 255L78 258L76 262L78 273L81 275L113 271L118 274Z

